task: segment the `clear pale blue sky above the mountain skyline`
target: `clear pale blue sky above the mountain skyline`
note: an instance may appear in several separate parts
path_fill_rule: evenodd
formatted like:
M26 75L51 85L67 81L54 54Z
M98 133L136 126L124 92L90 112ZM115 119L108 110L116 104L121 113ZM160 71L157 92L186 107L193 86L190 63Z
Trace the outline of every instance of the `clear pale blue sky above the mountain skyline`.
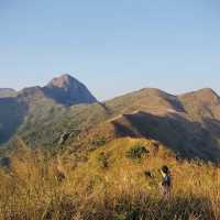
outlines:
M220 94L220 1L0 0L0 87L62 73L101 100L143 87Z

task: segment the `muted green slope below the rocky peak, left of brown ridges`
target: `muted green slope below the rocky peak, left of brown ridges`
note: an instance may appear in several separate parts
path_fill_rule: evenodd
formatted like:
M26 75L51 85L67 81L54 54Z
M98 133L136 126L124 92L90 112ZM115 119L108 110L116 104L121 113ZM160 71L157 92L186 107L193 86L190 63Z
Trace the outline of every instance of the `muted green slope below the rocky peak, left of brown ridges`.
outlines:
M79 132L103 121L106 116L103 108L98 103L89 107L84 105L64 107L45 100L32 106L18 135L31 146L54 147L62 134L76 136Z

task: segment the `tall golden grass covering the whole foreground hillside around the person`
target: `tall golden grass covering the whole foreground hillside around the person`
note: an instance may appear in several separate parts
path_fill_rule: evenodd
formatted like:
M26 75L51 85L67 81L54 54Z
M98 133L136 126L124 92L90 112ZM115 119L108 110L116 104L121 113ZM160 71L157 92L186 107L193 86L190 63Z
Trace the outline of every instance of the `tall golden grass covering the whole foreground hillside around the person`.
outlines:
M150 153L127 157L138 144ZM220 168L177 161L152 141L116 140L77 165L72 155L47 158L25 147L11 157L11 169L0 172L0 219L220 219ZM158 190L163 164L173 174L168 200Z

